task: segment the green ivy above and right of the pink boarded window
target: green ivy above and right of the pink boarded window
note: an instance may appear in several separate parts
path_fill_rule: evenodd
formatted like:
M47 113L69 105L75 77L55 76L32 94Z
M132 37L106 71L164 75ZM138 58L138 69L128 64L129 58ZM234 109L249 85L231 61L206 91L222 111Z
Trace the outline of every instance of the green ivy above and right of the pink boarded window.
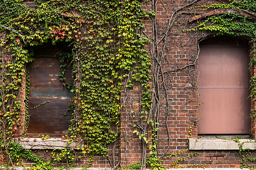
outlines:
M209 16L204 22L198 25L199 30L205 30L210 32L216 32L216 35L225 35L230 37L246 37L249 42L255 42L256 40L256 23L255 19L249 17L255 17L255 5L256 1L234 1L229 0L230 3L213 4L210 6L204 6L204 8L224 9L231 8L233 12L226 12L225 14ZM240 11L240 12L236 12ZM241 12L245 12L247 15L241 15ZM250 51L250 63L249 71L253 69L255 65L255 46L252 46ZM250 95L251 101L255 101L256 94L256 76L250 78ZM249 117L255 117L255 109L251 111ZM242 148L243 143L240 143L238 139L234 138L233 141L239 145L239 151L236 153L241 158L241 168L251 169L249 163L255 162L256 159L251 158L251 150L244 150Z

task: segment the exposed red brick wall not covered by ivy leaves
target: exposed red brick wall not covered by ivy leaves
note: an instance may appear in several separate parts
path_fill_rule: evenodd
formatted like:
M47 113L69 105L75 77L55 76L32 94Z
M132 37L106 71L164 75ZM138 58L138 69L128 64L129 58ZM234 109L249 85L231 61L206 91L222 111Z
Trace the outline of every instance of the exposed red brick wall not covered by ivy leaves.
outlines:
M189 151L188 150L188 138L197 138L197 43L200 40L210 37L207 32L190 32L187 31L194 24L197 19L203 19L205 16L220 14L225 11L208 12L207 14L200 14L201 11L197 11L197 14L187 14L192 10L188 8L184 11L184 14L172 16L177 8L187 5L191 1L171 1L164 0L158 1L156 4L156 16L154 20L145 19L144 33L145 37L150 37L150 40L161 40L164 36L164 32L167 32L166 41L159 41L157 46L158 54L162 55L158 58L161 59L161 69L163 74L159 75L158 79L158 91L159 91L159 130L158 130L158 156L162 157L165 167L177 167L174 162L179 159L185 158L183 162L179 163L181 167L218 167L218 168L234 168L240 167L240 158L236 155L236 151L233 150L201 150L201 151ZM200 1L197 5L207 5L214 1ZM25 2L27 6L33 7L34 3L30 1ZM152 3L144 3L145 10L154 10ZM186 13L187 12L187 13ZM170 22L170 18L175 21ZM170 29L166 31L168 25L172 24ZM152 28L155 26L155 29ZM154 32L155 31L155 32ZM157 36L154 36L157 33ZM255 46L256 44L254 44ZM155 54L154 41L151 41L147 46L148 54ZM154 57L151 56L152 64L154 65ZM254 66L251 71L251 76L255 75L256 67ZM153 74L154 70L151 71ZM26 80L23 77L23 84L20 88L20 100L24 101L25 84ZM164 87L166 83L166 87ZM125 80L124 80L125 83ZM151 82L156 83L156 82ZM155 84L152 84L155 87ZM120 136L120 164L121 168L126 165L133 164L141 161L142 156L142 142L138 139L138 136L133 133L135 130L133 125L133 116L139 117L139 86L135 86L131 89L122 89L121 104L123 105L121 110L121 136ZM167 103L168 102L168 103ZM251 102L251 109L255 109L255 101ZM20 113L22 117L19 133L23 133L24 130L24 104L22 104L22 111ZM255 138L255 117L251 118L251 128L253 131L251 137ZM189 133L191 131L191 133ZM37 151L36 151L37 152ZM118 148L114 152L109 151L109 159L114 154L114 158L118 158ZM172 154L180 153L178 156L172 156ZM191 158L191 154L196 154ZM40 154L40 153L39 153ZM150 150L147 150L147 154L150 154ZM254 158L256 154L251 156ZM118 162L118 159L116 163ZM88 159L82 159L80 167L83 167L88 163ZM199 165L197 165L199 164ZM26 165L31 165L27 163ZM108 159L101 156L96 157L92 162L91 167L95 168L109 168L112 165Z

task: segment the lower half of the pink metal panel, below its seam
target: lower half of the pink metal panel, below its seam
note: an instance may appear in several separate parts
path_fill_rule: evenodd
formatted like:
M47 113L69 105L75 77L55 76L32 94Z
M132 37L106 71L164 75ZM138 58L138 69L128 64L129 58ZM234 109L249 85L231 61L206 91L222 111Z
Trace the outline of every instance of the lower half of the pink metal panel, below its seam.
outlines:
M249 134L248 90L199 88L199 93L199 134Z

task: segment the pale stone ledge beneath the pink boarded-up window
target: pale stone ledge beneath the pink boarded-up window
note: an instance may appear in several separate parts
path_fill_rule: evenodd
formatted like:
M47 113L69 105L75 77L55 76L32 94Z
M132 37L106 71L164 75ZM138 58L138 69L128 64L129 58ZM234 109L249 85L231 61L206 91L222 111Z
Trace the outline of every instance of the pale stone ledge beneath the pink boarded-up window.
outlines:
M256 149L256 141L240 139L243 149ZM239 143L219 138L189 139L189 150L239 150Z

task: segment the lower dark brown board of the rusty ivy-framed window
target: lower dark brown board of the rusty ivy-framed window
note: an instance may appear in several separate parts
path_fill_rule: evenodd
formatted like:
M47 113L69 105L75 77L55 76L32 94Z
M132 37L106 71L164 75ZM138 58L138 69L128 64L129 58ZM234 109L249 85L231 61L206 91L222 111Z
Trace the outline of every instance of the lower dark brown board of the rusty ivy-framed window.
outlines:
M49 101L49 103L36 105ZM65 97L29 97L30 124L27 133L60 134L67 133L71 112L68 112L70 99Z

